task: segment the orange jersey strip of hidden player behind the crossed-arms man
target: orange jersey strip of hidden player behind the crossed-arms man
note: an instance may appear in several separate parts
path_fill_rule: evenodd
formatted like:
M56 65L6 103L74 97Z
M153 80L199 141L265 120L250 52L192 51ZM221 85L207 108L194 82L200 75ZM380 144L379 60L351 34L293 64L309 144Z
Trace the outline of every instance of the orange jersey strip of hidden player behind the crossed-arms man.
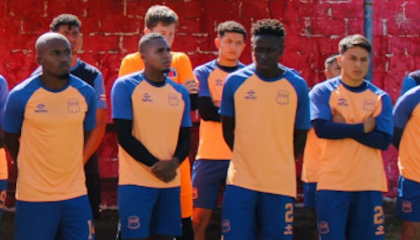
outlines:
M306 183L318 182L324 142L323 139L318 138L313 128L309 130L303 154L302 181Z

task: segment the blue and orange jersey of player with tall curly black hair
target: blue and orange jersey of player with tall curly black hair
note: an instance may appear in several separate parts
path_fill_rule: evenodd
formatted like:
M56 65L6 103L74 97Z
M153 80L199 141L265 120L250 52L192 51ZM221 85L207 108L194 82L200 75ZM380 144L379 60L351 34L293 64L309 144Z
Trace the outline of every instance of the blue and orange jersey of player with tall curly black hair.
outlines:
M311 127L305 80L290 70L264 79L252 64L228 76L220 111L235 118L227 184L296 197L294 129Z

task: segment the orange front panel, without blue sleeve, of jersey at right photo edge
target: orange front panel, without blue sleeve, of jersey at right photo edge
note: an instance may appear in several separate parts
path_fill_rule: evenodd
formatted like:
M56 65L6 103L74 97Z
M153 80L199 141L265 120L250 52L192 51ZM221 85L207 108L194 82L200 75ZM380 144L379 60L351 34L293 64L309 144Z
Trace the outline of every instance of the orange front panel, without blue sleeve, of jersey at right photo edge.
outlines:
M398 167L400 174L412 181L420 182L420 105L413 110L404 129L400 148Z

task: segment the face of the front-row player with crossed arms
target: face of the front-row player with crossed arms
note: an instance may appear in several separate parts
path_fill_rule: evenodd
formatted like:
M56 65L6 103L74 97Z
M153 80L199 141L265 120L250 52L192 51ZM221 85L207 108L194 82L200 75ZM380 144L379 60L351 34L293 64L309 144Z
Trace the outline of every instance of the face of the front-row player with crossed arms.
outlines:
M337 57L342 75L350 80L363 80L369 70L369 52L361 47L349 48Z

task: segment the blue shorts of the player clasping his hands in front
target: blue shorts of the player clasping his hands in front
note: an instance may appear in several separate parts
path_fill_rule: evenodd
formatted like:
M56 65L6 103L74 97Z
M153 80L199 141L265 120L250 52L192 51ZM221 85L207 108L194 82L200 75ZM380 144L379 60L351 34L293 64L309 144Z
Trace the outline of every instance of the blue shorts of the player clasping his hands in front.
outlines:
M181 236L180 188L118 186L122 239Z

